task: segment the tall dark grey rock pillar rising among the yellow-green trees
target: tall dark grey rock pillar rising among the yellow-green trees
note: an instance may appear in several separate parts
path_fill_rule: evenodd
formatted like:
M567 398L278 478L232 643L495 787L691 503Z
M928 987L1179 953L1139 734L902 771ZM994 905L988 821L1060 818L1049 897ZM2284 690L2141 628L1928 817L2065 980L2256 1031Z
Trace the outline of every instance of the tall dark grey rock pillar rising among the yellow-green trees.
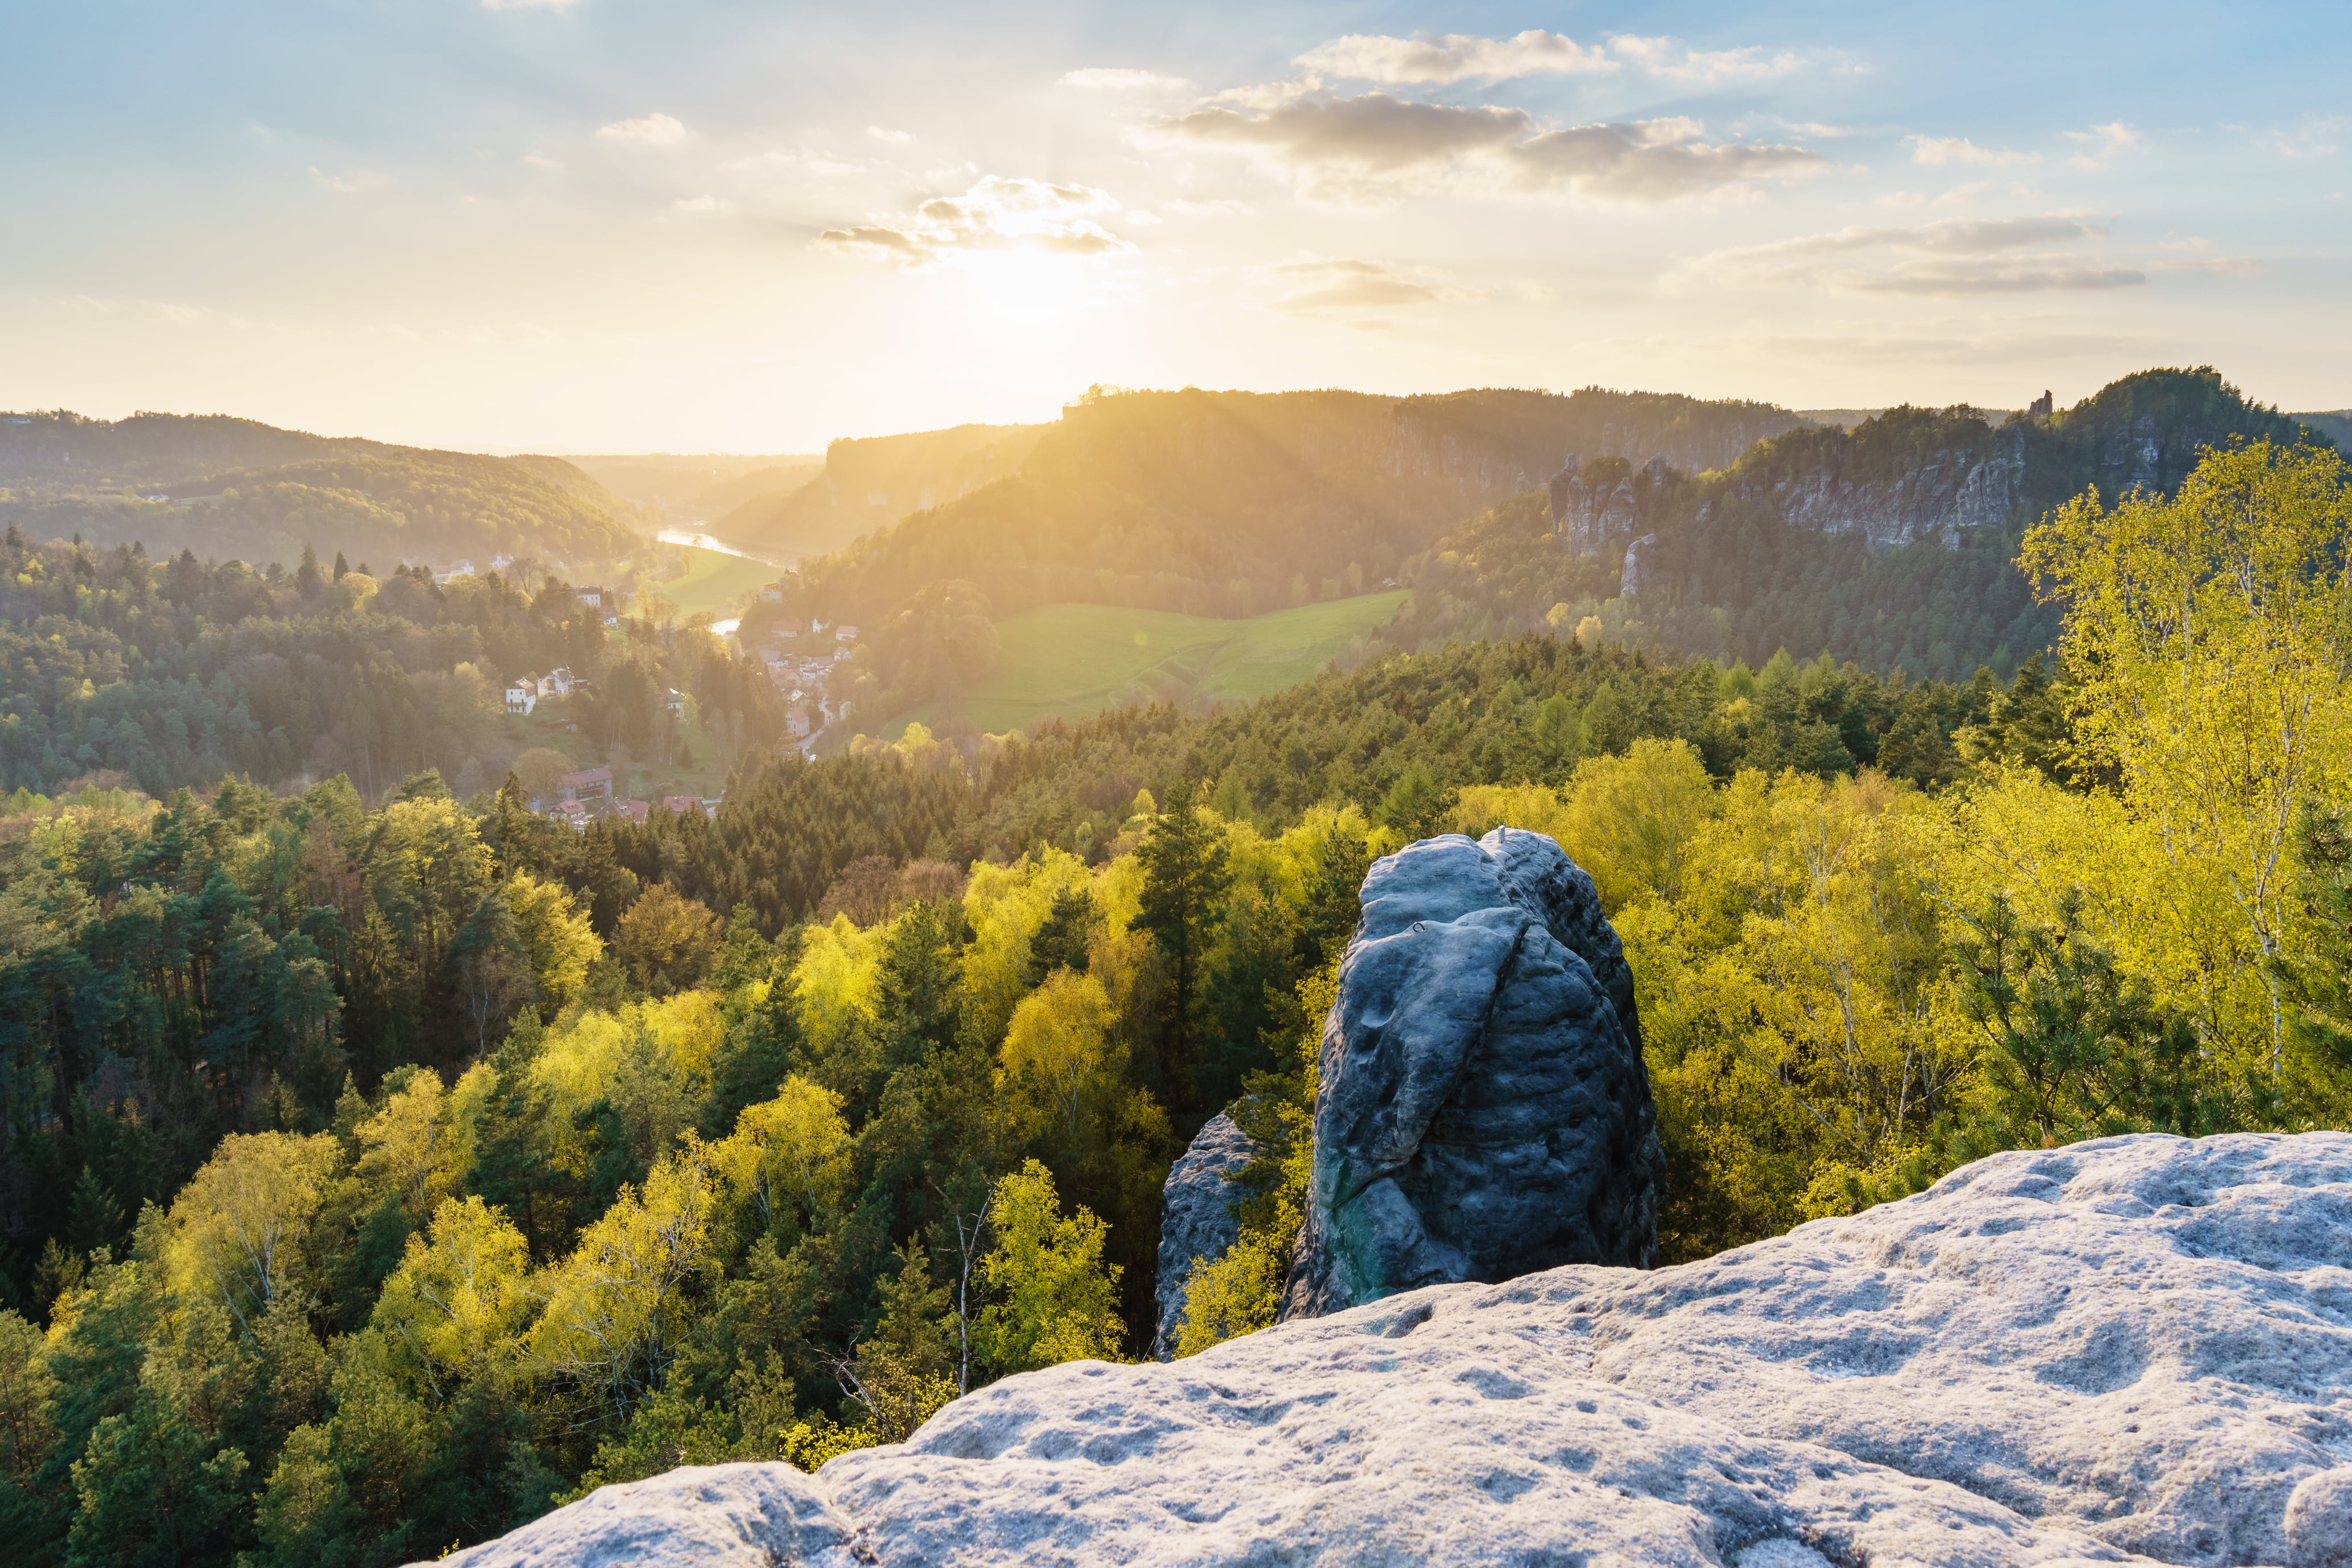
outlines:
M1646 1265L1663 1157L1632 973L1592 879L1552 839L1498 827L1378 860L1362 905L1282 1316Z

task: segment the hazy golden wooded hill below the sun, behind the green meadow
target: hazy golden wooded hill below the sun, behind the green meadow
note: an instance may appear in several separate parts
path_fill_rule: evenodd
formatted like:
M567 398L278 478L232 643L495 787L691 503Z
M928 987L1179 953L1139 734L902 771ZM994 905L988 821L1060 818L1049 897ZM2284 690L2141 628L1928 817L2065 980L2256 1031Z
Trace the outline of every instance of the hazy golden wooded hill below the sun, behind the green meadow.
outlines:
M1376 588L1573 451L1712 465L1799 423L1769 404L1602 388L1094 393L1023 433L1016 473L960 498L934 491L929 510L809 562L800 604L875 623L927 583L969 581L997 616L1058 602L1256 616ZM828 491L793 505L854 503L847 468L828 454ZM868 496L877 515L908 501Z

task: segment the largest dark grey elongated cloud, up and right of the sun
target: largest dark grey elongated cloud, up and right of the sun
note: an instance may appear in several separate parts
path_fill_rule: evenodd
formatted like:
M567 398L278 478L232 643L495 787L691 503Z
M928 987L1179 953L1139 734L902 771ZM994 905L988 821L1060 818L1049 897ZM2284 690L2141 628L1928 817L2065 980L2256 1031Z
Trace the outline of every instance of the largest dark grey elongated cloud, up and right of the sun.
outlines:
M1545 129L1524 108L1416 103L1385 92L1294 99L1263 113L1211 103L1152 129L1254 150L1298 174L1310 195L1348 200L1503 188L1663 202L1828 167L1792 146L1708 143L1696 120Z

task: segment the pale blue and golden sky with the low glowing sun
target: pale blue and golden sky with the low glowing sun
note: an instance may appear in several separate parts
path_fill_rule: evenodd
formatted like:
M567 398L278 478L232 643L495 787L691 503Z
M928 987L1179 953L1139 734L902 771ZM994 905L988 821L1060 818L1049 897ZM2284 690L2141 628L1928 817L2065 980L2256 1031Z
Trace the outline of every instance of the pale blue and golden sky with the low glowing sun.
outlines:
M2352 404L2352 7L12 5L0 407L818 451L1089 386Z

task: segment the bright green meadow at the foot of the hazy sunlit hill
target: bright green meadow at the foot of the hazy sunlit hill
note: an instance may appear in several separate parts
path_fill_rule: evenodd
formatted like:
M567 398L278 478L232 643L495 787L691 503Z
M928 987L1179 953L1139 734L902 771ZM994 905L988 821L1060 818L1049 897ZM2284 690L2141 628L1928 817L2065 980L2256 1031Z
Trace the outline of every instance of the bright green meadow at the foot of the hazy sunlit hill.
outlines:
M1178 703L1270 696L1345 654L1404 599L1404 592L1369 592L1251 621L1049 604L997 625L997 668L988 679L955 703L901 715L884 733L896 738L913 722L953 715L1007 731L1155 696Z

